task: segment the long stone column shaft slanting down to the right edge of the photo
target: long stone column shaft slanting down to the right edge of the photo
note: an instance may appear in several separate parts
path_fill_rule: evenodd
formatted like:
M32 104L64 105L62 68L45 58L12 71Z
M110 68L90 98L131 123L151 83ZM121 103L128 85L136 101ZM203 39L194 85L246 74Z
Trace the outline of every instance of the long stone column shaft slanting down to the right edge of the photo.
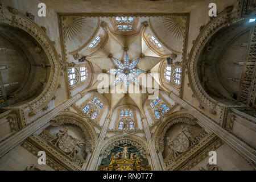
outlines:
M207 117L207 115L201 113L201 111L188 104L188 102L176 96L176 94L170 93L170 98L176 101L184 109L188 110L188 112L192 114L195 118L197 118L197 123L205 130L212 131L250 163L256 162L256 152L253 148L242 142L242 140L234 137L234 135L228 133L228 131L217 125L211 118Z

